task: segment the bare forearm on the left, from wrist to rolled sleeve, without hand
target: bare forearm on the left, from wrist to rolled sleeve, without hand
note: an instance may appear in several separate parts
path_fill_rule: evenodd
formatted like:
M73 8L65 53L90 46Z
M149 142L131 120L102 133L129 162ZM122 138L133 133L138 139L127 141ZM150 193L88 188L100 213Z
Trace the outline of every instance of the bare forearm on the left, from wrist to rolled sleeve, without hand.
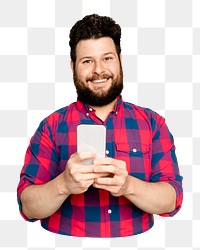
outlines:
M69 196L64 192L63 174L43 185L31 185L21 193L22 211L29 219L43 219L55 213Z

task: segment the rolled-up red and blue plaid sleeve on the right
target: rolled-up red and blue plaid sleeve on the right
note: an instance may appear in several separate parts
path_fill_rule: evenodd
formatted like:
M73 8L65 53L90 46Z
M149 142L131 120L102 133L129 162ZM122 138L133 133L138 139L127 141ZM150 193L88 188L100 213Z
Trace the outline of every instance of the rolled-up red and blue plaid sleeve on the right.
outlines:
M157 115L154 121L152 141L152 174L151 182L167 182L176 191L176 208L171 213L160 216L174 216L181 208L183 200L182 179L179 173L175 145L163 117Z

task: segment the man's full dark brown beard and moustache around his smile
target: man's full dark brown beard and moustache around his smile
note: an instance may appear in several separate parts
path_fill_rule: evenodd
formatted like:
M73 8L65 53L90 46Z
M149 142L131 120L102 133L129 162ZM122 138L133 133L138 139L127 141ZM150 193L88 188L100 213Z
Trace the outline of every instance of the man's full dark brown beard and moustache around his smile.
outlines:
M89 87L85 86L85 83L82 82L76 73L76 70L73 71L73 79L74 85L76 87L76 92L78 96L78 100L83 103L87 103L90 106L104 106L112 101L114 101L122 92L123 90L123 70L120 64L120 73L116 79L114 79L113 74L94 74L92 77L86 79L87 81L94 81L100 79L111 79L112 83L109 89L106 91L93 91ZM109 80L110 80L109 79Z

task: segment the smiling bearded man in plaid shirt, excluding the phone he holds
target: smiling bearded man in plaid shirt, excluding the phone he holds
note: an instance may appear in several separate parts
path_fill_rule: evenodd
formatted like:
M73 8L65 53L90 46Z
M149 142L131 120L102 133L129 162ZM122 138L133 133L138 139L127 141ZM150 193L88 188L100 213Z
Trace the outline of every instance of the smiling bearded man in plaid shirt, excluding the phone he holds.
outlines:
M120 237L173 216L182 204L173 137L164 118L122 100L121 29L90 15L70 31L77 102L45 118L31 139L18 186L23 217L74 236ZM77 153L79 124L103 124L104 159Z

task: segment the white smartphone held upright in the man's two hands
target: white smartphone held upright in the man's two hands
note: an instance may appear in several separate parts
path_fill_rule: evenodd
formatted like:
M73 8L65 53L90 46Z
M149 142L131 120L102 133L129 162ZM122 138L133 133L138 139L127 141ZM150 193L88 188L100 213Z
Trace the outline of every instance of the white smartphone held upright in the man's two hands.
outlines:
M77 126L77 151L92 152L96 158L106 156L106 127L97 124L80 124ZM84 165L93 164L94 159L83 162Z

